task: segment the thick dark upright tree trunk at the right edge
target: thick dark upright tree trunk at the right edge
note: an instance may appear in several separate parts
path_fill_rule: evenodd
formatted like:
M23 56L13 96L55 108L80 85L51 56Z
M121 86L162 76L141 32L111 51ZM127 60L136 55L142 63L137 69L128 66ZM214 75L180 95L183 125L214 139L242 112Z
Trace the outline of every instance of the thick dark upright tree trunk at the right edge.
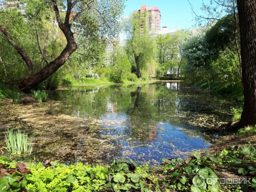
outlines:
M244 109L238 127L256 124L256 0L237 0Z

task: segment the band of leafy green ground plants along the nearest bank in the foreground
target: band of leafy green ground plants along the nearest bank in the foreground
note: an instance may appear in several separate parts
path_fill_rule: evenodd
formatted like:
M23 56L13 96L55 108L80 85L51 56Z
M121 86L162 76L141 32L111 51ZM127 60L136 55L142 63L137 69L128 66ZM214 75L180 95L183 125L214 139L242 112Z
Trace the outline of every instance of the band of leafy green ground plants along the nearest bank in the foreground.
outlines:
M256 148L248 144L216 154L195 152L187 161L163 159L159 167L123 159L110 165L67 166L46 160L25 166L0 156L0 169L1 192L247 192L256 189ZM220 184L213 179L219 177L216 170L220 169L251 178L250 183ZM205 183L202 178L213 181Z

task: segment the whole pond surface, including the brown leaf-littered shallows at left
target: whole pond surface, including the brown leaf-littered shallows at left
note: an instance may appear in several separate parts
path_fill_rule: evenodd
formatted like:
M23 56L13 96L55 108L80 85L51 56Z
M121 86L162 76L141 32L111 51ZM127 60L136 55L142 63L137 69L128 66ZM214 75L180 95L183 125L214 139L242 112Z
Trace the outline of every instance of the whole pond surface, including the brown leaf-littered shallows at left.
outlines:
M218 139L221 133L214 128L230 119L232 105L180 82L74 87L49 91L49 99L61 105L49 105L47 113L85 121L68 134L50 126L28 128L39 143L32 155L67 163L110 163L117 157L159 165L163 158L187 157Z

